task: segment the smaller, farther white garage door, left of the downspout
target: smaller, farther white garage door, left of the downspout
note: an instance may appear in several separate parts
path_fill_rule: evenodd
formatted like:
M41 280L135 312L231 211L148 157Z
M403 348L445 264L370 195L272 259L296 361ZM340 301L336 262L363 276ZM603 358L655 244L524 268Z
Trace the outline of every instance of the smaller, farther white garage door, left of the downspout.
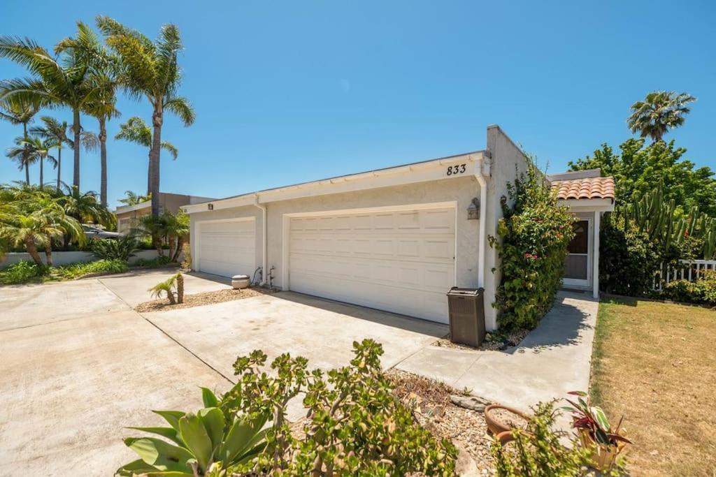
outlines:
M198 270L231 277L256 270L256 220L200 222Z

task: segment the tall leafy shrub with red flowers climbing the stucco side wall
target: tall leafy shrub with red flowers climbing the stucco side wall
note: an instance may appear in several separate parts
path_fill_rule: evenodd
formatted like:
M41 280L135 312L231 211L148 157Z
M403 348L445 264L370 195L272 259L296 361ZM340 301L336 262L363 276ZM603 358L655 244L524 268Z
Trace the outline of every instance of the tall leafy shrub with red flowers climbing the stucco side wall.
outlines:
M499 252L502 272L493 306L500 328L534 328L561 287L574 216L557 205L530 158L527 173L519 174L508 191L514 205L508 207L507 197L501 198L501 241L488 237Z

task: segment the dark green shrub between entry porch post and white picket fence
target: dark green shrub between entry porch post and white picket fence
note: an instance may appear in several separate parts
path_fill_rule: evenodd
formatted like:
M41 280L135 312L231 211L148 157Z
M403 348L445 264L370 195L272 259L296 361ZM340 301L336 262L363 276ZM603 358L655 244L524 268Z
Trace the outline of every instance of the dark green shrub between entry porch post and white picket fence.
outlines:
M652 290L662 258L649 235L611 214L604 216L599 234L599 285L617 295L641 296Z

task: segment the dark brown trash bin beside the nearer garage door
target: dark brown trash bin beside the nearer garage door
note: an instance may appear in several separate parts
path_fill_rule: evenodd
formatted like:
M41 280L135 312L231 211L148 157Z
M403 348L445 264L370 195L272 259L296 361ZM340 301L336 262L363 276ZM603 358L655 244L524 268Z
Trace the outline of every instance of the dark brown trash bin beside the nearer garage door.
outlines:
M485 339L484 288L452 287L448 292L450 341L477 348Z

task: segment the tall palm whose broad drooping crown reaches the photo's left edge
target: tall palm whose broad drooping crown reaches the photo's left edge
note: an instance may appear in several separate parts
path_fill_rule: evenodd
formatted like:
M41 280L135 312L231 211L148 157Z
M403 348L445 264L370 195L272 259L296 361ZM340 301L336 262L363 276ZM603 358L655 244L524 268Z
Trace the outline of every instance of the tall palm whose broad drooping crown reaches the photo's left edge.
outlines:
M0 58L8 58L26 67L31 78L6 79L0 82L0 102L19 100L38 107L69 107L72 109L74 144L82 134L80 113L85 105L101 93L89 81L89 65L73 50L55 58L31 39L0 36ZM79 189L80 148L74 147L72 184Z

